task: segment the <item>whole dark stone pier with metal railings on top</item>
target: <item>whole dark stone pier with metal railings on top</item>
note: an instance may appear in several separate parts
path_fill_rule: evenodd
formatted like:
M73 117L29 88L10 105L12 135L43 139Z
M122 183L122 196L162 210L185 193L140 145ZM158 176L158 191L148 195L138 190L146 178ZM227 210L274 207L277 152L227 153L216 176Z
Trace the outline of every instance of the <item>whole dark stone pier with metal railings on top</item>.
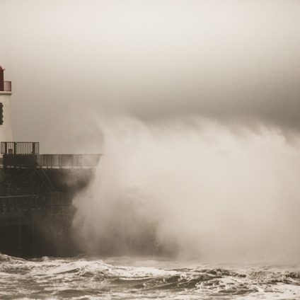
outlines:
M87 187L100 154L40 154L38 142L1 142L0 252L74 255L72 200Z

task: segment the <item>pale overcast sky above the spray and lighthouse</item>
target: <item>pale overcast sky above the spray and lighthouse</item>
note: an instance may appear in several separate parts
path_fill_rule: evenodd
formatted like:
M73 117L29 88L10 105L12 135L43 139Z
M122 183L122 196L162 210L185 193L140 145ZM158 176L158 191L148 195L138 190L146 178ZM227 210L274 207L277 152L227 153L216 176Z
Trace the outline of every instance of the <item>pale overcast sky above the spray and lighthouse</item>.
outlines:
M299 131L299 16L297 0L0 0L14 137L65 149L103 113Z

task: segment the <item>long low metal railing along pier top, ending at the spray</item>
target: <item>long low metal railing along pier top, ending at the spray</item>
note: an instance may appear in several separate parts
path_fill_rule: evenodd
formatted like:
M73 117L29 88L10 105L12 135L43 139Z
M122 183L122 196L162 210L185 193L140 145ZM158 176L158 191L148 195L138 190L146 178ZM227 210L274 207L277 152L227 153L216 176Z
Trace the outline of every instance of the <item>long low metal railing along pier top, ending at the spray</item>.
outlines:
M4 168L95 168L101 154L5 154Z

